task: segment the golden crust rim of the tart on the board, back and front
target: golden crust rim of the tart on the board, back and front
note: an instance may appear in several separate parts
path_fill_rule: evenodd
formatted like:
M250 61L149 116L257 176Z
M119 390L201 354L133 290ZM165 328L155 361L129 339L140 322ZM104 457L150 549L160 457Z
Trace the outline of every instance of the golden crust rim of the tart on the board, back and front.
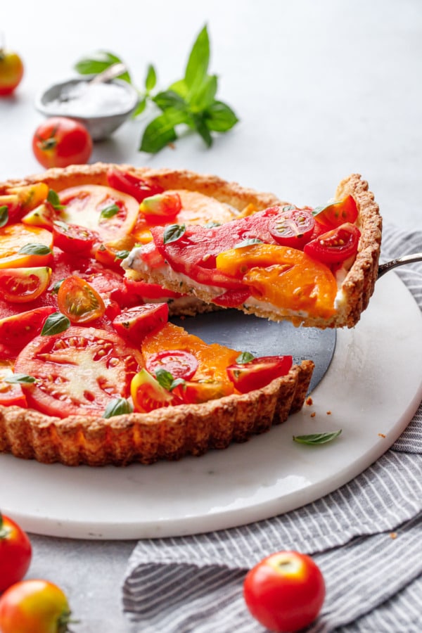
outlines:
M234 208L236 214L253 205L262 210L280 200L271 193L257 193L215 176L188 171L150 170L115 165L164 188L185 188L213 196ZM52 169L25 179L0 184L0 195L13 186L43 181L55 191L82 184L107 184L110 164ZM203 404L182 404L112 418L69 416L57 418L33 409L0 407L0 452L42 463L66 466L126 466L199 456L211 449L225 449L231 442L245 442L299 411L307 395L314 363L304 360L287 376L243 395L229 395Z

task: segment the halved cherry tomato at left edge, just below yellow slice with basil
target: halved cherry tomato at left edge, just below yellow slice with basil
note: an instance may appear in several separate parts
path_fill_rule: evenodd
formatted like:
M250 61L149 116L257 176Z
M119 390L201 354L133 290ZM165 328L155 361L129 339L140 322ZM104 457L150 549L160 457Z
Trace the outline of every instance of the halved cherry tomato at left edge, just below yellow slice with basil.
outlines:
M0 268L0 292L6 301L25 303L37 299L48 288L51 268Z

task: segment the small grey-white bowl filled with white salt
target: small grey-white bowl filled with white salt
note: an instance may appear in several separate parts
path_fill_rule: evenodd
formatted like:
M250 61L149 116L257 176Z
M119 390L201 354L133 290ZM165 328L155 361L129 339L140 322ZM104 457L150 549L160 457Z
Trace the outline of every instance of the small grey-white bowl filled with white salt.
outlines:
M46 117L68 117L87 127L93 141L101 141L134 112L139 95L122 79L90 84L92 77L53 84L35 99L35 108Z

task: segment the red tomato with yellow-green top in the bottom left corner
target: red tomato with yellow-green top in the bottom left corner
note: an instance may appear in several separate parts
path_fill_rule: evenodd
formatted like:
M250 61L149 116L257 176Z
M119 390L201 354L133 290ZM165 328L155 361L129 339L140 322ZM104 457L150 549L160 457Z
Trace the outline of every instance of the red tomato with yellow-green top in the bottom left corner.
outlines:
M48 580L23 580L0 598L1 633L65 633L70 608L60 587Z

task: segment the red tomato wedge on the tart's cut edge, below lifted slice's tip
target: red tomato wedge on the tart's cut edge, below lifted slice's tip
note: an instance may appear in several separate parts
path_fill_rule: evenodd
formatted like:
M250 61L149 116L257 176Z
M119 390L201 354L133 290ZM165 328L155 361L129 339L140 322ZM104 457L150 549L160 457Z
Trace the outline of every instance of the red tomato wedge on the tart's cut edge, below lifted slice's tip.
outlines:
M113 320L113 328L133 345L141 343L147 334L155 332L167 323L167 303L145 303L122 309Z

